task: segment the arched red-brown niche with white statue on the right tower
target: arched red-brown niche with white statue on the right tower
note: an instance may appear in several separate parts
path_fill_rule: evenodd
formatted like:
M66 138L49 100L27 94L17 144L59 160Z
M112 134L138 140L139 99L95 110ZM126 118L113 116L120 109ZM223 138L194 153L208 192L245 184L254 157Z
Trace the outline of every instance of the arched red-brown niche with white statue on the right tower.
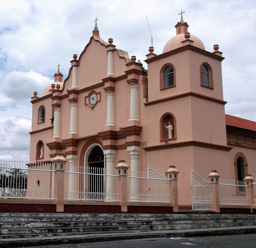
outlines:
M176 120L173 114L165 113L160 119L160 141L176 139Z

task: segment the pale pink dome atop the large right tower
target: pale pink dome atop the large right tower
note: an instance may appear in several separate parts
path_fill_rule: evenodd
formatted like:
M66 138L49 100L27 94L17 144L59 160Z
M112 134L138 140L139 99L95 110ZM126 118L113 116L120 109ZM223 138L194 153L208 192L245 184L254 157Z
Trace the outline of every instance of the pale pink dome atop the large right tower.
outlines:
M203 42L199 38L197 38L196 36L190 34L190 38L189 39L194 41L193 46L196 46L198 48L201 48L201 49L205 50L204 44L203 44ZM184 38L184 34L177 34L176 36L172 37L165 44L163 53L164 52L169 52L171 50L174 50L176 48L179 48L179 47L183 46L182 43L181 43L183 40L186 40L186 38Z

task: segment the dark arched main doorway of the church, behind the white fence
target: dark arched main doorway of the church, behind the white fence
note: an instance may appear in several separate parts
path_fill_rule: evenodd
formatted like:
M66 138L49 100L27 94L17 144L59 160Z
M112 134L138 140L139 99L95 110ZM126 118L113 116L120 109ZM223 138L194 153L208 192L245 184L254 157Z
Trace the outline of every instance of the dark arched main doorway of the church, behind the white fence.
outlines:
M100 146L92 145L85 156L87 190L90 200L104 200L104 153Z

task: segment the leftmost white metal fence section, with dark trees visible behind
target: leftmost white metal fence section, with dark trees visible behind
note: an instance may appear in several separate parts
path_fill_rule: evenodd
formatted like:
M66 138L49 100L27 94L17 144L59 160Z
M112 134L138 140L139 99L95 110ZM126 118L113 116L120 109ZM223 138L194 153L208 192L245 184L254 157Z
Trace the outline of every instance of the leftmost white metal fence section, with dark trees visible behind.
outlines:
M0 198L54 199L51 163L0 160Z

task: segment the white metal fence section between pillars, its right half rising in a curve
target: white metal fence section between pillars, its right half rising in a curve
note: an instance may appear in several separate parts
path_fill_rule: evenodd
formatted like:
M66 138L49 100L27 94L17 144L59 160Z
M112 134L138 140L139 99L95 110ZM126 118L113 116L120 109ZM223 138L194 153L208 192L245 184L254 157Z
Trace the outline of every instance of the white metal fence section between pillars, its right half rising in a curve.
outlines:
M147 172L131 172L128 201L171 202L170 180L152 168Z

